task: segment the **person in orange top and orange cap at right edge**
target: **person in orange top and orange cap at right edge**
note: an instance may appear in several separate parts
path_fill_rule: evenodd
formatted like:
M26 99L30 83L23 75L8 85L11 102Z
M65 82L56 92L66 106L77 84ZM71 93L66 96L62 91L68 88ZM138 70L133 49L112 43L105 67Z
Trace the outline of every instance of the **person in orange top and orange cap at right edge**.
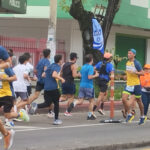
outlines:
M144 75L140 76L142 86L142 102L144 105L144 115L147 118L147 112L150 103L150 64L144 65Z

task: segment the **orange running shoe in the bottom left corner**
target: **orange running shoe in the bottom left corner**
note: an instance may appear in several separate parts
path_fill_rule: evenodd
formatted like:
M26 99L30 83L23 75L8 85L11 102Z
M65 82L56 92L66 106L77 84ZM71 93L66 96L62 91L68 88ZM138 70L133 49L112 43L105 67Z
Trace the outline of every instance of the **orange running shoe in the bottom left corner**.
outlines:
M13 139L14 139L15 131L14 130L9 130L8 135L4 136L4 149L9 150L13 144Z

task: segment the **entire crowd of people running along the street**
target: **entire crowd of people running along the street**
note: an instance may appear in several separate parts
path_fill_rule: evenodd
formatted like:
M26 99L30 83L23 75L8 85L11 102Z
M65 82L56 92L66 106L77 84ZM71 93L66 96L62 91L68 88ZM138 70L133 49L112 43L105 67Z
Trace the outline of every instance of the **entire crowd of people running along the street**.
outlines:
M107 99L108 85L114 67L111 63L113 57L105 52L103 60L93 66L93 56L84 57L85 64L79 71L76 61L77 53L70 53L70 60L63 62L61 55L55 55L54 63L50 62L50 49L43 50L43 57L34 69L31 64L30 53L19 56L16 62L12 49L6 50L0 46L0 107L4 112L5 125L14 126L14 120L30 120L29 114L34 114L37 109L49 108L48 115L54 117L54 125L62 124L59 119L59 103L67 101L65 116L71 117L71 111L77 105L89 100L87 120L95 120L95 111L104 115L104 101ZM150 65L144 65L143 69L135 59L136 50L129 49L126 63L126 86L122 94L124 110L123 116L126 122L131 122L135 115L136 102L139 105L141 116L139 125L147 120L147 112L150 101ZM80 79L78 99L75 100L75 78ZM96 79L100 92L95 101L94 83ZM36 81L35 92L32 94L31 81ZM59 84L61 82L61 84ZM61 88L61 94L60 94ZM37 104L36 100L40 92L44 90L44 102ZM31 95L32 94L32 95ZM0 121L0 131L4 137L4 148L9 149L13 142L14 131L4 128Z

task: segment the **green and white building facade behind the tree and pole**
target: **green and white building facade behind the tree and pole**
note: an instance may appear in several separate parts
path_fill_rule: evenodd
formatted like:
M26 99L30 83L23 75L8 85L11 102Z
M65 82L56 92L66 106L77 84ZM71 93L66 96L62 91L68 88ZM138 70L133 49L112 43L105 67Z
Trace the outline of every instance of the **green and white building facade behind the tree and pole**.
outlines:
M78 22L64 12L58 0L57 52L68 59L70 52L79 54L78 64L83 64L82 37ZM66 0L70 5L70 0ZM100 0L87 0L86 10L93 11ZM103 5L107 5L102 1ZM0 35L18 38L47 39L49 0L28 0L27 14L1 14ZM114 19L106 49L119 56L127 56L129 48L137 50L137 59L144 65L150 63L150 0L122 0ZM124 63L119 69L125 69Z

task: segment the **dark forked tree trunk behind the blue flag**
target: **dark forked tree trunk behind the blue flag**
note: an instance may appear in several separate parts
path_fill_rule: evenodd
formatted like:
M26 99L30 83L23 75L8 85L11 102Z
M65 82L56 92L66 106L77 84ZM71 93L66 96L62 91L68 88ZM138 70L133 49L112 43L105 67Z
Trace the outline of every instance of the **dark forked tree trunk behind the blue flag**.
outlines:
M103 18L102 29L104 35L104 47L106 47L107 39L113 23L116 12L119 10L121 0L108 0L106 8L106 15ZM92 53L95 63L102 59L102 54L93 49L93 29L92 18L95 17L94 13L86 11L83 7L82 0L72 0L69 11L70 15L79 23L83 39L83 52L84 55ZM99 19L99 18L98 18Z

